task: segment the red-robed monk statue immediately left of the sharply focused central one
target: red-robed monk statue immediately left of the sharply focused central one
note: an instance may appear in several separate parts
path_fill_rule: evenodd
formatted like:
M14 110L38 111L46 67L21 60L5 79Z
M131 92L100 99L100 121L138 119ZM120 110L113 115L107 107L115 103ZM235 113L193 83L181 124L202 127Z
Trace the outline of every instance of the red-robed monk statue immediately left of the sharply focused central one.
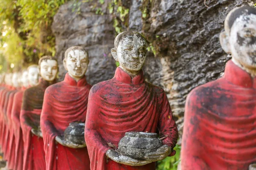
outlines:
M90 169L84 141L84 122L91 88L84 75L88 63L87 51L79 46L68 48L63 60L67 70L64 81L51 85L45 91L40 124L47 170L63 170L64 167L70 170Z

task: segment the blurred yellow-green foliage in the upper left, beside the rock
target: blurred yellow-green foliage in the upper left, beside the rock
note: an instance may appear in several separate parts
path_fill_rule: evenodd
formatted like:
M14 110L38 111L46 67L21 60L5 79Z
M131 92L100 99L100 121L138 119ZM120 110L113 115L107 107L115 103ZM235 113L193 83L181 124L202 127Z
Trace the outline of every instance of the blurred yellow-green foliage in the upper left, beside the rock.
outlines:
M0 72L35 64L55 55L51 25L68 0L0 0Z

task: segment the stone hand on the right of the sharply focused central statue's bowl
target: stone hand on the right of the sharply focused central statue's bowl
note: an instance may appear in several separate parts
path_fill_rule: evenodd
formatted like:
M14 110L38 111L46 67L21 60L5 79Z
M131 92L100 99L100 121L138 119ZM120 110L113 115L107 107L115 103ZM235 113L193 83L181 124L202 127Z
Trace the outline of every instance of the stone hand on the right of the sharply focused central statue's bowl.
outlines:
M163 145L157 149L155 152L145 154L145 159L149 161L160 161L165 159L172 153L171 147Z

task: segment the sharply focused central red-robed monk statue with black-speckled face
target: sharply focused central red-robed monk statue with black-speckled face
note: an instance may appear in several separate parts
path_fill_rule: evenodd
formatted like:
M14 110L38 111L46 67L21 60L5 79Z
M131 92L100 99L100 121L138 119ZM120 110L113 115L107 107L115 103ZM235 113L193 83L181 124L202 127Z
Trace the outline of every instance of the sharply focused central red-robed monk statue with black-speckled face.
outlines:
M145 82L143 78L142 67L146 59L143 35L134 31L120 33L115 38L111 53L120 64L115 76L94 85L89 95L84 136L90 169L155 170L154 161L176 153L173 148L177 143L177 126L167 96L162 88ZM124 136L129 140L140 137L153 140L157 130L163 145L153 152L138 152L141 159L115 150ZM149 139L145 140L148 143ZM125 145L125 142L120 143ZM137 147L143 150L144 146L138 144Z

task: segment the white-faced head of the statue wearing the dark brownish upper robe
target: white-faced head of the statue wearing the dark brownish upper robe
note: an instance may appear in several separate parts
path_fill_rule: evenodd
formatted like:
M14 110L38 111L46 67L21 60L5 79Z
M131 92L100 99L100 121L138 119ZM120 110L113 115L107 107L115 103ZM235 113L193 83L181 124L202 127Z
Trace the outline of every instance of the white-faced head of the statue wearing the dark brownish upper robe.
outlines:
M39 59L38 62L40 75L41 77L48 81L52 82L58 73L58 62L52 56L44 56Z

